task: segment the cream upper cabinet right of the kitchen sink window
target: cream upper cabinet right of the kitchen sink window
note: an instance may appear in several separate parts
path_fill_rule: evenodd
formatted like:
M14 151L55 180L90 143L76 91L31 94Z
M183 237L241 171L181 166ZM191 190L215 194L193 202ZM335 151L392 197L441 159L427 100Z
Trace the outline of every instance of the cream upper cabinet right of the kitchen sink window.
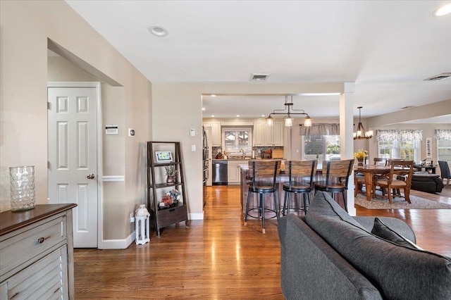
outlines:
M283 121L274 120L272 126L255 121L254 146L283 146Z

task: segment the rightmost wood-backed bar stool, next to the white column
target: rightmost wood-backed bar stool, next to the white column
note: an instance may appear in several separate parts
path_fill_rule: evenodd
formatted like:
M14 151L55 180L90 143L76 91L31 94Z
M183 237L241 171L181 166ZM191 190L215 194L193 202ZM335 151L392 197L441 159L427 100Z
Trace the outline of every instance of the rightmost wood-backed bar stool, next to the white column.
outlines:
M347 191L347 183L353 165L354 159L323 161L323 179L315 182L315 194L317 191L330 192L331 194L341 193L345 203L345 211L347 211L345 191Z

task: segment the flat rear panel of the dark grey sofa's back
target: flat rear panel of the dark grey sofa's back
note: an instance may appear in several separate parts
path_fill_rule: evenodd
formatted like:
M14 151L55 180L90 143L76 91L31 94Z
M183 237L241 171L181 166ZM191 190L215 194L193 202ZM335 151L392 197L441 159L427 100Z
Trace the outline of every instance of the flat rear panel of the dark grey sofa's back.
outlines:
M303 217L290 213L279 221L283 224L279 228L280 285L285 299L382 299L378 289L311 230Z

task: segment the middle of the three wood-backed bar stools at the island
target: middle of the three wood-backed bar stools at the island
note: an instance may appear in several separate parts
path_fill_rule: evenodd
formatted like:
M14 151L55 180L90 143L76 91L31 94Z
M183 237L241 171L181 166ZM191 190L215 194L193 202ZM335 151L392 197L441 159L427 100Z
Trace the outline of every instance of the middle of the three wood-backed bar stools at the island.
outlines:
M307 202L310 204L310 193L313 186L313 177L316 174L316 163L316 160L285 161L285 173L288 171L288 182L283 184L285 196L283 200L282 215L288 215L288 213L290 213L292 194L302 194L304 200L303 211L304 213L307 213Z

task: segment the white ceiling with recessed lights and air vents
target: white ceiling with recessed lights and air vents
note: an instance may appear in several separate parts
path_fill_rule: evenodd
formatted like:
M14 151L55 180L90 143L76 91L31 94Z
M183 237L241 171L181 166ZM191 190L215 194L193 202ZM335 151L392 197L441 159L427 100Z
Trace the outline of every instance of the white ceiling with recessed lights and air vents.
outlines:
M450 1L66 2L151 82L249 82L251 73L270 73L268 83L355 82L363 118L451 99L451 78L424 81L451 72L451 15L431 16ZM168 36L150 34L155 24ZM203 99L204 116L219 118L256 118L285 102ZM338 96L293 102L313 118L338 117Z

